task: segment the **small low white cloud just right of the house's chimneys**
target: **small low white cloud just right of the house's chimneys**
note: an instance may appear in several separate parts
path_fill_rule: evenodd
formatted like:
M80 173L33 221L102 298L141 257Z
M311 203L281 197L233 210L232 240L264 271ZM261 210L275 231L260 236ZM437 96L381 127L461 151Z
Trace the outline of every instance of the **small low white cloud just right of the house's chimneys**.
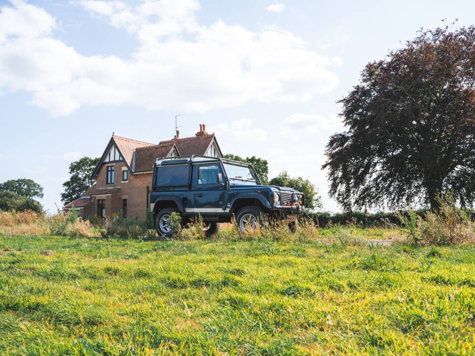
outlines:
M217 136L231 136L235 141L264 142L267 140L268 133L264 129L253 127L253 121L250 119L239 119L230 124L219 124L209 130Z

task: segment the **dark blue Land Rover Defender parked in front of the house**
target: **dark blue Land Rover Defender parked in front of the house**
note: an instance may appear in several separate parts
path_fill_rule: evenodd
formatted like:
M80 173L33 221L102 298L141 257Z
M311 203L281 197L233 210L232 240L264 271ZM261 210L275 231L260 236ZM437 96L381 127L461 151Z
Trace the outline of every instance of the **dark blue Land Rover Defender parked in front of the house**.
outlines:
M153 165L150 211L161 236L173 234L173 212L182 216L183 225L201 216L207 235L212 235L217 223L229 223L233 216L241 231L271 218L285 220L293 229L303 209L302 193L262 185L246 163L193 155L158 158Z

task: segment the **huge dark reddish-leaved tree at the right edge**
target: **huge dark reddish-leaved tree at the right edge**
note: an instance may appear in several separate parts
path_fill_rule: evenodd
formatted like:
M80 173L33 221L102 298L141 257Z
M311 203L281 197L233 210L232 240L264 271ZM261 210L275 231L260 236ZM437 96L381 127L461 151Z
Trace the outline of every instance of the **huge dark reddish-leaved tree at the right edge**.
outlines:
M345 209L475 201L475 27L421 30L366 65L327 144L330 195Z

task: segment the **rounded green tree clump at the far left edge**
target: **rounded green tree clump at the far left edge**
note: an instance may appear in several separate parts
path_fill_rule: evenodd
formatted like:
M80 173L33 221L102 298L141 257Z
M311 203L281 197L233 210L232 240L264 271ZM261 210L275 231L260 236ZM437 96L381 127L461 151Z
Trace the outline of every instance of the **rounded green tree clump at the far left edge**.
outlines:
M43 187L32 179L10 179L0 184L0 210L33 210L43 213L33 198L43 198Z

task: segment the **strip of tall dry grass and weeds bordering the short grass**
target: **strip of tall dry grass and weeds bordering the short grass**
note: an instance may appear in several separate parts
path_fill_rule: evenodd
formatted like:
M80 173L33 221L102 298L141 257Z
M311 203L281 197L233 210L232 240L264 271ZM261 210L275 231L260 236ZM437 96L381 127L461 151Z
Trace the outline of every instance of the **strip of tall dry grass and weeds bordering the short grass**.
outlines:
M270 221L255 230L239 231L236 222L221 224L212 239L223 241L320 241L327 244L358 246L368 239L397 240L422 245L450 245L475 242L475 224L458 209L450 197L441 198L437 212L427 212L425 219L412 211L399 214L400 223L388 227L364 227L353 219L348 223L327 223L319 227L313 220L301 220L295 232L283 222ZM181 225L181 217L172 214L174 234L178 240L205 239L205 224L197 221ZM124 239L157 239L159 236L149 221L124 219L120 214L101 220L82 220L76 211L46 217L34 212L0 212L0 234L9 235L69 235Z

